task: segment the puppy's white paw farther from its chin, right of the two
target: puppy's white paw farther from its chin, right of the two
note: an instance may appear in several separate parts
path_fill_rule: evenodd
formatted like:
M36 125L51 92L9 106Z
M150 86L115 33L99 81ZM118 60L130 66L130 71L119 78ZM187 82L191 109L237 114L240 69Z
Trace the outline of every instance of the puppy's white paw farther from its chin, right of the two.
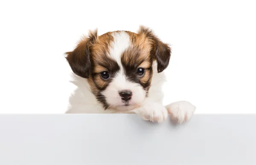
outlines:
M179 123L188 121L195 113L195 108L195 105L187 101L177 101L166 105L168 113L172 114L172 118L176 119Z

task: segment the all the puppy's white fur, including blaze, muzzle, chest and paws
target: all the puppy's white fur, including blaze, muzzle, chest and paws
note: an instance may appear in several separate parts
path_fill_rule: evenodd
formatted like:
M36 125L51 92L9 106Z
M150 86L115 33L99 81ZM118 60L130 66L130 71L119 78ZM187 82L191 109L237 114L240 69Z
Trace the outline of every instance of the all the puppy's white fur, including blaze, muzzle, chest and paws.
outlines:
M114 41L111 43L112 47L109 56L119 64L120 71L105 91L102 91L102 94L105 96L108 104L114 108L104 110L91 93L87 79L73 74L71 82L77 86L77 89L70 97L67 113L137 113L143 119L152 122L163 122L166 120L168 113L170 113L180 123L188 120L195 112L195 106L189 102L180 101L163 106L161 86L166 81L166 77L164 72L157 73L157 63L155 61L152 66L153 77L147 98L145 97L145 91L140 85L126 79L121 64L121 54L126 48L131 46L130 38L125 32L116 32L113 34L113 37ZM122 106L123 103L119 96L119 91L121 90L132 91L133 95L129 101L130 106Z

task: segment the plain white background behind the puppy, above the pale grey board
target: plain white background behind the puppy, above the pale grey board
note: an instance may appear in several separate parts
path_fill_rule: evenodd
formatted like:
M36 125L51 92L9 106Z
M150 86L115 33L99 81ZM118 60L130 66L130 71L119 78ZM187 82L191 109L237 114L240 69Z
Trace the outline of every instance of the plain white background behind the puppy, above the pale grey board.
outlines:
M0 2L0 113L64 113L73 86L63 57L98 28L152 28L172 45L168 104L196 113L256 113L256 5L253 0Z

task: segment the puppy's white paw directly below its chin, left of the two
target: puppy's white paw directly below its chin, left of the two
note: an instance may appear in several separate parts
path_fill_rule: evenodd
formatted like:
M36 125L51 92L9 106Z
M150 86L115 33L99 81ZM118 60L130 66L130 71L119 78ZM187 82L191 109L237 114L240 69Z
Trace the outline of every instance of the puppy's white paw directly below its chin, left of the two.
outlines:
M168 111L165 106L155 102L143 105L141 108L137 109L136 113L144 120L158 123L165 121L168 117Z

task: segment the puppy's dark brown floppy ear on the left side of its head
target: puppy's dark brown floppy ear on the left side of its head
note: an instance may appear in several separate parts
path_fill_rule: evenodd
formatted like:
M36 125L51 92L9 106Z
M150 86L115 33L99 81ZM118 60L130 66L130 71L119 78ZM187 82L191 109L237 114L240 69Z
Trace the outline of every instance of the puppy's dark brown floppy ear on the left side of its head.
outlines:
M89 37L84 37L73 51L65 53L72 71L80 77L90 76L90 46L97 37L97 29L93 32L89 31Z

